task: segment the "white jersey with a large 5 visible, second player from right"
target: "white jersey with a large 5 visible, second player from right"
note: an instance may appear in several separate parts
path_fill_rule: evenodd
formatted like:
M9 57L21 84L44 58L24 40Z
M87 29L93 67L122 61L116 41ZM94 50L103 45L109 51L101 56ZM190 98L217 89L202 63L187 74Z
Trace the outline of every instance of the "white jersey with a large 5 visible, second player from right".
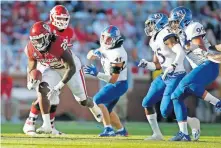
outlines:
M174 36L174 33L170 31L169 27L165 27L159 33L152 36L149 43L150 47L157 56L163 71L167 67L171 66L176 58L176 53L173 52L172 49L168 48L164 43L166 38L169 38L170 36ZM182 54L185 54L184 51ZM185 72L183 63L184 58L185 56L183 56L183 58L177 63L178 65L175 72Z

